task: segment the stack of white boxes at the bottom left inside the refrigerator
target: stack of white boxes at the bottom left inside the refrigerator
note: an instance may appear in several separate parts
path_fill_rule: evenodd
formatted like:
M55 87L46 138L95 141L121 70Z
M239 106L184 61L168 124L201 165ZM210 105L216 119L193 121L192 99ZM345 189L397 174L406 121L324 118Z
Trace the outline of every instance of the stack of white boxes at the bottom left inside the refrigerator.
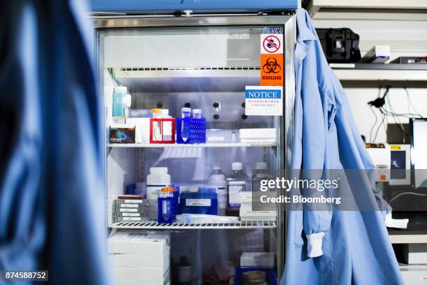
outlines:
M108 257L114 284L170 284L170 233L167 231L113 232Z

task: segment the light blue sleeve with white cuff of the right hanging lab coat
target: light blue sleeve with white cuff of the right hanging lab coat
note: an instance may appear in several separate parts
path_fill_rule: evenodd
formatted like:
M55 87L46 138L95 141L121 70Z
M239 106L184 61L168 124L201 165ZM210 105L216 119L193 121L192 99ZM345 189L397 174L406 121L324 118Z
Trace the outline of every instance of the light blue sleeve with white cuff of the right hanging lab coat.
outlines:
M328 112L328 108L333 110L329 96L325 96L324 90L320 89L317 83L322 77L322 66L326 60L319 57L320 43L315 36L310 17L305 10L297 11L297 25L299 34L297 36L297 47L295 50L295 70L296 70L296 103L301 100L302 116L294 117L295 126L302 128L302 162L303 170L324 169L325 155L327 154L327 138L329 136L329 122L333 119L333 114ZM323 56L323 54L322 54ZM327 98L327 100L322 100ZM301 119L302 124L297 122ZM317 195L317 193L310 193ZM303 230L307 238L308 257L321 256L322 240L324 234L331 225L331 211L304 210Z

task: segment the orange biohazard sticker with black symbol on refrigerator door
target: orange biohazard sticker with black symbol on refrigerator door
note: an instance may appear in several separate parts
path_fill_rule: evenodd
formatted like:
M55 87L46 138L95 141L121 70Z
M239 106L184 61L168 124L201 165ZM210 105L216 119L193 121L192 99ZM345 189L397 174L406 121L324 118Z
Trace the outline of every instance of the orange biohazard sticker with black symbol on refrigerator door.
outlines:
M260 85L283 85L283 54L261 54Z

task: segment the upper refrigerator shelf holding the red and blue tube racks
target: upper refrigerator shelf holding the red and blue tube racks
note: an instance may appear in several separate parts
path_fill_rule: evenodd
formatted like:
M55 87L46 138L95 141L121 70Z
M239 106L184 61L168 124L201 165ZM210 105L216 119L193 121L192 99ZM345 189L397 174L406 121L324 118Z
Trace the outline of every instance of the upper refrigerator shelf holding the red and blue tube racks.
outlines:
M176 143L148 144L148 143L110 143L107 147L276 147L275 142L227 142L227 143L200 143L182 145Z

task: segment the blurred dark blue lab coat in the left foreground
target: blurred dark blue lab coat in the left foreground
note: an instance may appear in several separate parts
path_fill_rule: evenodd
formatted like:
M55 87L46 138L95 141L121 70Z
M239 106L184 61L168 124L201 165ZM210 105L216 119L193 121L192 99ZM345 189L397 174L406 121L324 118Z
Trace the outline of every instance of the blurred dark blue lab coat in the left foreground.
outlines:
M85 17L82 1L0 2L0 270L50 270L50 284L108 281Z

